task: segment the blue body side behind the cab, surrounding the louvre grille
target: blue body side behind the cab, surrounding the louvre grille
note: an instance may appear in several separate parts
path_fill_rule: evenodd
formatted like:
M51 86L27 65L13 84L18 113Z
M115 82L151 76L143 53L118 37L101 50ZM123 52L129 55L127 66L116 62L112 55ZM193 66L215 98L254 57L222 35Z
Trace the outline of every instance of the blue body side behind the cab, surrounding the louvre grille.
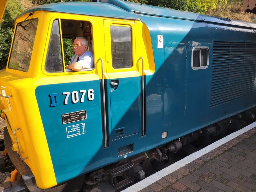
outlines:
M156 72L154 75L146 77L146 105L147 109L151 106L161 106L161 109L157 108L155 113L147 114L147 136L151 136L151 134L155 135L156 131L154 130L154 127L158 127L158 134L170 130L171 132L168 134L168 138L171 137L172 139L175 139L209 126L221 119L225 119L255 107L256 80L254 82L254 91L251 94L230 100L229 102L216 107L210 107L214 41L253 43L256 42L256 33L254 30L173 18L149 18L143 15L141 15L141 21L149 28L156 65ZM156 23L161 23L161 26L164 27L159 29L156 27ZM163 35L163 48L157 48L157 35ZM194 46L209 47L210 56L208 68L201 70L192 69L191 54ZM170 47L172 47L174 51L171 51ZM183 48L186 48L186 57L184 54L183 60L178 61L176 59L176 61L174 61L174 58L177 58L177 50ZM168 53L166 50L169 50ZM181 53L183 53L183 51ZM256 59L255 53L252 54L252 58ZM166 69L166 63L170 63L171 61L177 62L176 68ZM255 73L255 60L252 68ZM256 76L255 74L253 75L255 79ZM181 76L184 79L181 79ZM170 79L170 82L177 83L172 95L173 97L170 99L171 101L164 100L163 95L166 95L166 93L169 92L170 87L166 87L163 79L165 81ZM184 87L184 80L186 82L186 87ZM182 93L182 96L179 95L179 93ZM154 103L152 103L151 99L153 95L154 97L159 95L159 99L155 99ZM181 113L178 104L165 110L169 105L169 102L172 101L178 101L180 104L184 104L184 108L182 108L186 109L184 113ZM176 119L173 118L176 117L177 112L180 114L178 119L183 119L183 121L178 124L175 123ZM151 120L151 117L159 117L162 119L160 121L155 121ZM173 119L173 121L170 119ZM159 122L161 126L159 126ZM162 122L164 122L164 124L162 124ZM149 140L152 143L157 143L158 141L156 140L152 141L154 138L156 137L152 136Z

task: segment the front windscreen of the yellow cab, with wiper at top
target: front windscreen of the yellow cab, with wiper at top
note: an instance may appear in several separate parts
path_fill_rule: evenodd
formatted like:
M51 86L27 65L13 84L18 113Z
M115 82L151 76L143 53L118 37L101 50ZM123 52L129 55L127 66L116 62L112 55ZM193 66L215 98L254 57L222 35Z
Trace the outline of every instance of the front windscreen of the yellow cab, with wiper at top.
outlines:
M37 24L38 19L31 19L17 24L8 68L28 71Z

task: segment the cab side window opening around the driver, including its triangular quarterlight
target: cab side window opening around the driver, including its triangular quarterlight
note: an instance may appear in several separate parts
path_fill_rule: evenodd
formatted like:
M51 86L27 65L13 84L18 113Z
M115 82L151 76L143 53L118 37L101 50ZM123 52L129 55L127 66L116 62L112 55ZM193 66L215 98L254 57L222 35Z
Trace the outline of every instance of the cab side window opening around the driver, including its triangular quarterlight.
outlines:
M87 39L87 51L93 55L92 25L90 22L67 19L55 19L53 21L45 63L47 73L74 72L71 69L65 69L64 66L70 64L70 59L74 55L72 44L76 37ZM93 69L85 68L79 71L91 71Z

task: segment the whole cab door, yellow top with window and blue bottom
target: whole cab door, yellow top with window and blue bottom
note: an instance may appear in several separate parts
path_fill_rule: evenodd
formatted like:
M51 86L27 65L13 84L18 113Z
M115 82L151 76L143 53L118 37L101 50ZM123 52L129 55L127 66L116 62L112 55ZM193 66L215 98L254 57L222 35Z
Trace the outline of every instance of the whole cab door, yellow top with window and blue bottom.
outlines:
M135 58L134 22L104 20L108 107L112 140L138 134L140 81Z

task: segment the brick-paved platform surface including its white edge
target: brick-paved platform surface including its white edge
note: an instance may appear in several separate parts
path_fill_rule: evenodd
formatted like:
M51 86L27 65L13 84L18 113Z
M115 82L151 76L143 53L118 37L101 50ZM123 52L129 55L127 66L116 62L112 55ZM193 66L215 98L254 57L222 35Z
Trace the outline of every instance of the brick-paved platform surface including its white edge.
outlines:
M123 192L256 192L256 122L251 125L211 151L185 157L187 164L181 160L144 179L148 185L141 181Z

